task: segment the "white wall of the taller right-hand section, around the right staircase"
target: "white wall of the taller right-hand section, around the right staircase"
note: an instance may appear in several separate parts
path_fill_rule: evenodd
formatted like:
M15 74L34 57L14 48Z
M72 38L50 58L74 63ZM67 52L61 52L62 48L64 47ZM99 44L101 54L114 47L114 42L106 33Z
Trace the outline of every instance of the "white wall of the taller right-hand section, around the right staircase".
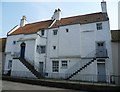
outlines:
M96 23L102 23L102 30L97 30ZM67 69L80 61L91 52L95 52L96 42L105 41L109 58L105 61L106 75L112 74L111 34L108 21L89 24L66 25L49 30L47 48L47 73L52 73L52 60L59 61L59 73L64 74ZM53 35L57 29L58 34ZM69 29L69 32L66 32ZM53 50L56 46L56 50ZM61 60L68 61L68 68L61 69ZM111 67L110 67L111 66ZM84 69L80 74L97 75L97 61ZM76 77L76 76L75 76Z

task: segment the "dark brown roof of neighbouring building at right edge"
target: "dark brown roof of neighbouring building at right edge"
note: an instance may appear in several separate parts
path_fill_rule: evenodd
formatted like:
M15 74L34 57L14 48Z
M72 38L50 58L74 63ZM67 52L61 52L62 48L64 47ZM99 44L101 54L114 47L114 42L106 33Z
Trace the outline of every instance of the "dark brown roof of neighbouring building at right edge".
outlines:
M112 42L120 42L120 30L111 30Z

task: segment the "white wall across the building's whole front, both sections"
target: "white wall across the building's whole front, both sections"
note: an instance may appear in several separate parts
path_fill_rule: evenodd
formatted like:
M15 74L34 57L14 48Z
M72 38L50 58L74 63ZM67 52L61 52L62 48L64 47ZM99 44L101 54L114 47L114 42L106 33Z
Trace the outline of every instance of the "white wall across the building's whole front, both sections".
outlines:
M65 72L70 69L80 61L81 57L85 57L89 53L93 52L96 49L97 41L105 41L106 48L108 50L109 59L106 59L106 75L112 74L112 57L111 57L111 36L110 28L108 21L99 22L102 23L103 29L97 30L96 23L89 24L74 24L66 25L58 28L45 29L45 35L40 37L37 34L29 35L13 35L8 36L7 45L6 45L6 63L5 70L8 67L8 61L12 59L12 53L20 52L20 44L22 42L26 43L25 57L34 63L36 69L39 69L39 62L44 63L44 72L53 74L52 72L52 60L59 61L59 72L60 74L65 74ZM58 30L57 35L53 35L53 30ZM68 32L66 32L68 29ZM48 32L48 33L47 33ZM38 32L41 34L41 31ZM45 38L47 37L47 39ZM13 41L16 41L16 44L13 44ZM45 58L46 53L39 54L36 52L37 45L46 45L47 46L47 58ZM53 49L53 46L56 46L56 49ZM63 69L61 67L61 61L67 60L68 67ZM12 70L20 71L20 68L25 69L23 64L13 60ZM19 69L15 68L19 66ZM23 68L24 67L24 68ZM89 67L80 72L80 74L97 74L97 61L92 63ZM74 76L73 79L77 79L77 76ZM78 76L79 77L79 76Z

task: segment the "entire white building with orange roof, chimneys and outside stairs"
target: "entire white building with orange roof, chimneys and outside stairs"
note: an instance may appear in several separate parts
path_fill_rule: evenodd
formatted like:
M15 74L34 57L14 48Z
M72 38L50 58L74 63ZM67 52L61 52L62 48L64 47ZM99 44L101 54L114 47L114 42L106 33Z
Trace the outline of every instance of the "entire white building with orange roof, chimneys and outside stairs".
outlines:
M110 82L113 75L111 31L106 2L102 12L27 23L8 32L4 74Z

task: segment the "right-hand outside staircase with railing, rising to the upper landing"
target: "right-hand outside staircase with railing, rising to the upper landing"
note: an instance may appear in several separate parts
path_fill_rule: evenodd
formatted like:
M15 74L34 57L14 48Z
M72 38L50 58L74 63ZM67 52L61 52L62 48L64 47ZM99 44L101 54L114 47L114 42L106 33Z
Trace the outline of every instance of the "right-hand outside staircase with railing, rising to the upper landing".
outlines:
M70 78L74 77L76 74L78 74L79 72L87 68L90 64L92 64L94 61L96 61L97 58L99 59L108 58L106 49L104 50L104 54L102 54L101 56L100 56L100 53L101 51L96 52L96 50L94 50L91 53L89 53L87 56L85 56L84 58L81 58L80 62L76 63L70 69L66 71L67 77L65 78L65 80L69 80Z

